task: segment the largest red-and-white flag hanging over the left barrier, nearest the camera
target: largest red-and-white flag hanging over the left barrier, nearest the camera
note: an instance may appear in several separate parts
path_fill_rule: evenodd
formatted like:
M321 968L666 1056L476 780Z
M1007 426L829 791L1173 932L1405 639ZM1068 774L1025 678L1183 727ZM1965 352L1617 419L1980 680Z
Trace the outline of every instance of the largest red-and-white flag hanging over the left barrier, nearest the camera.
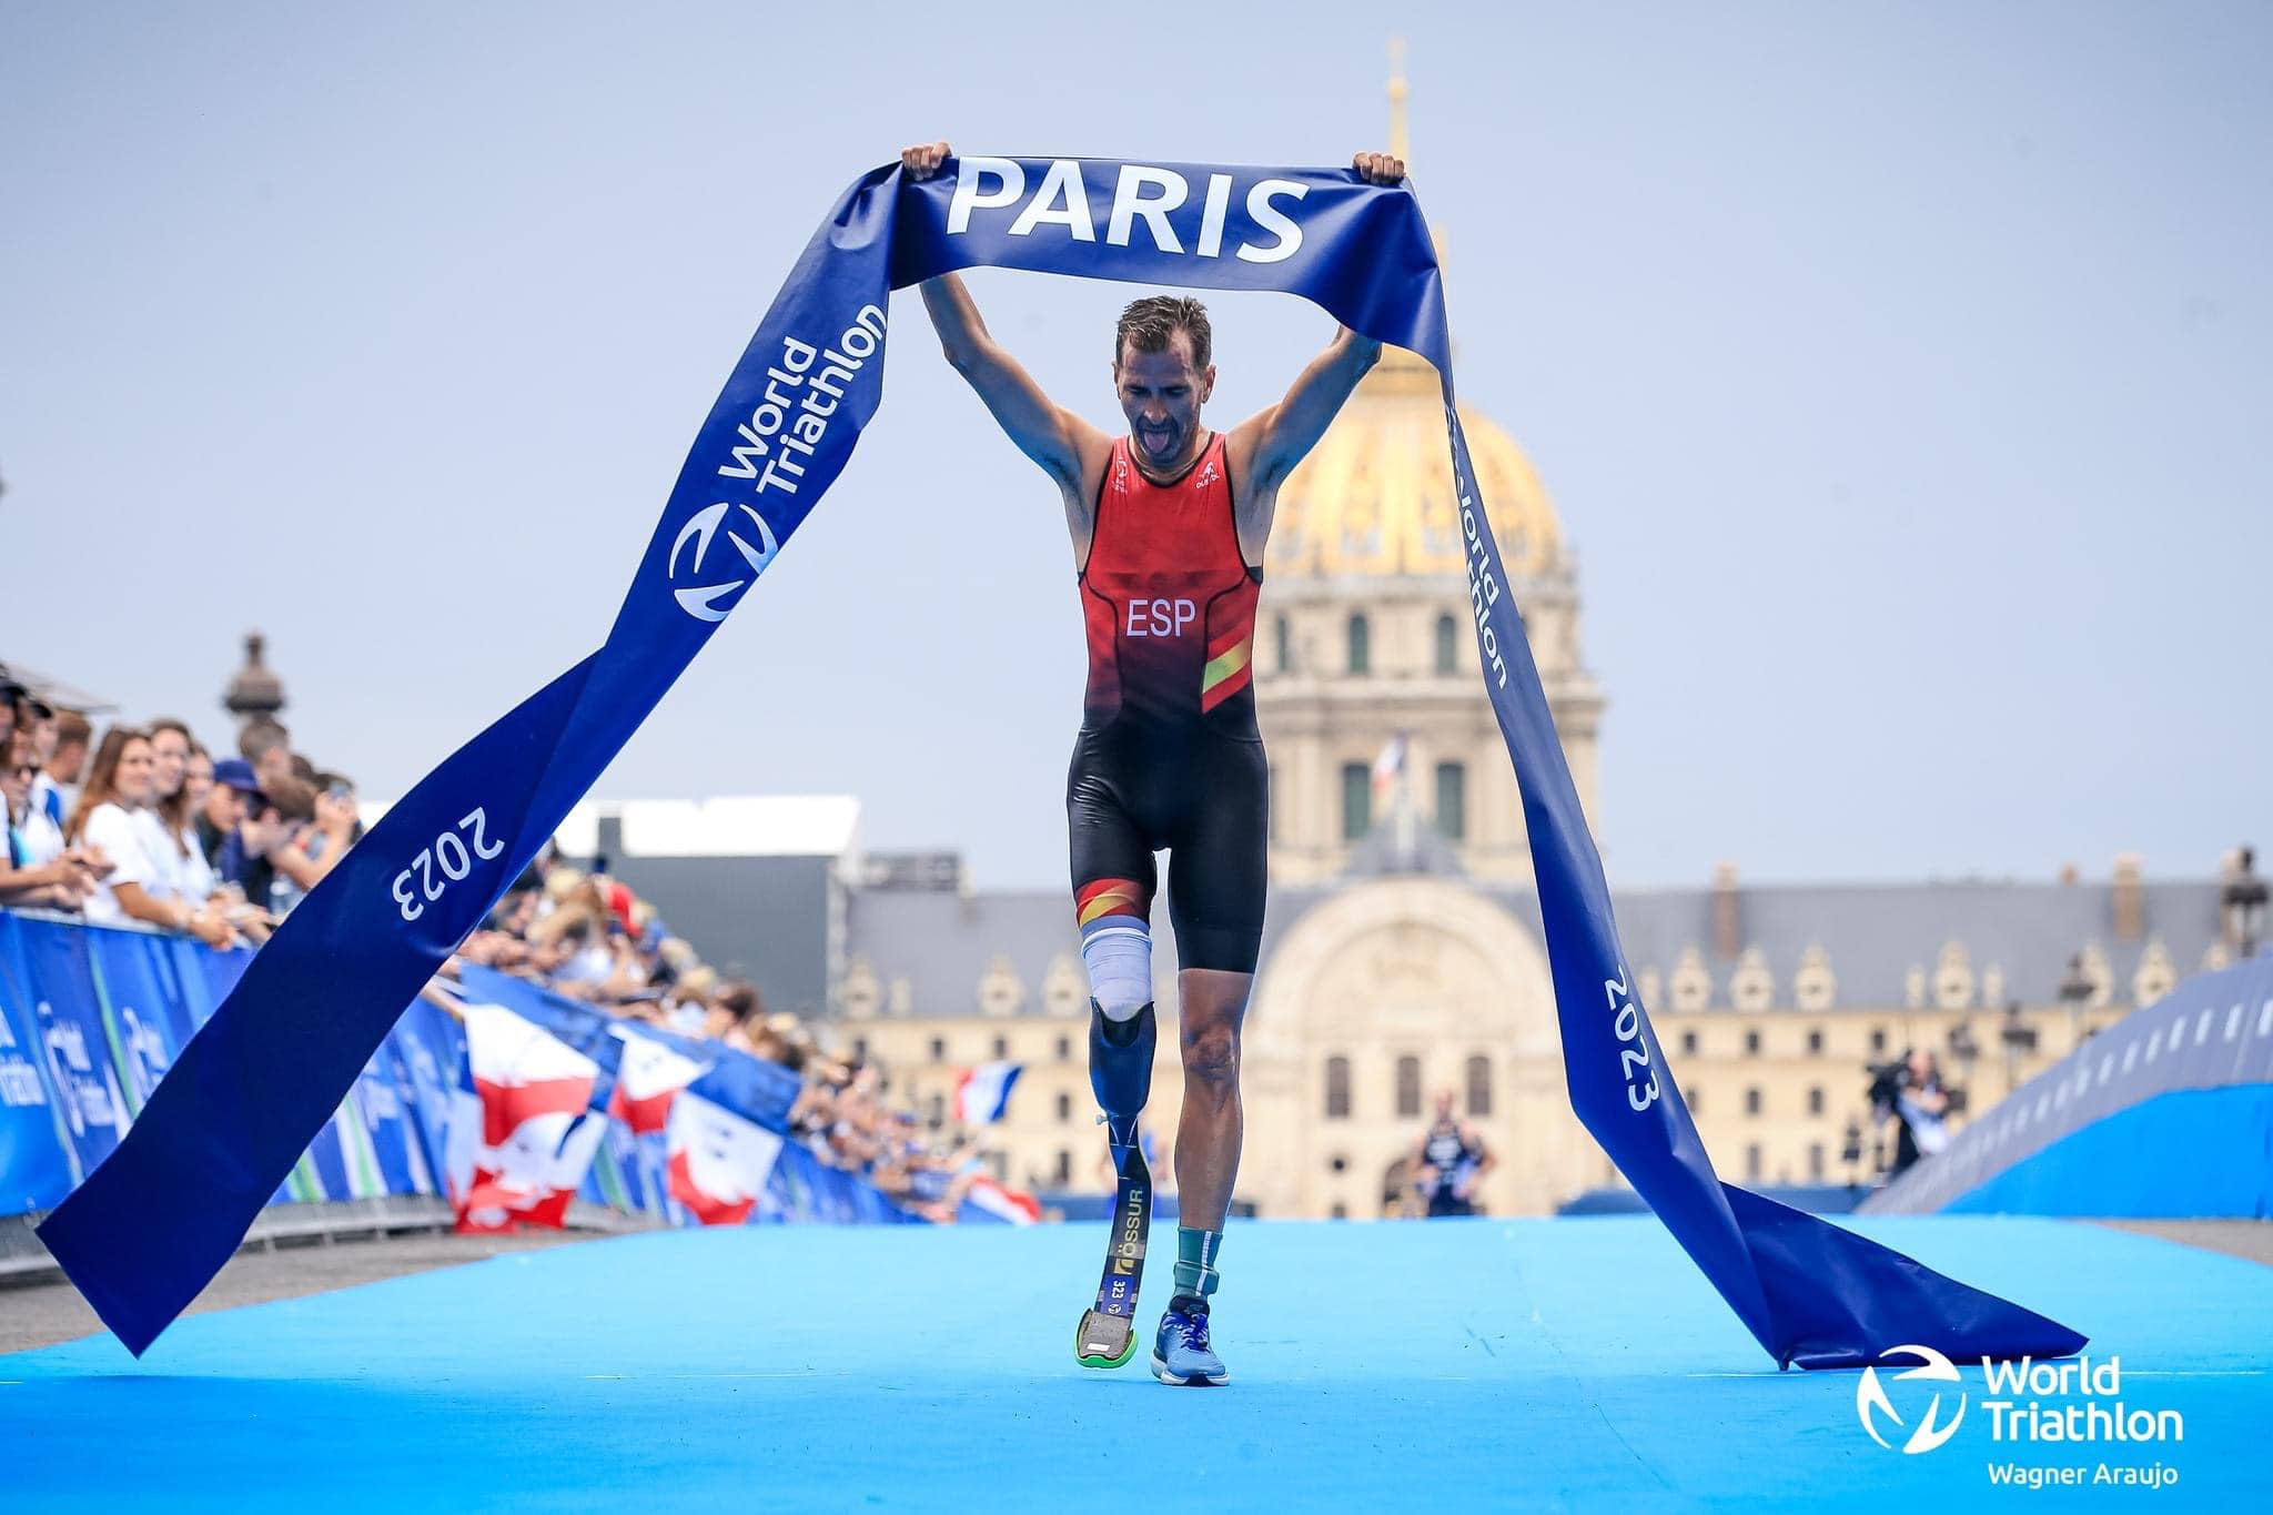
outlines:
M457 1229L559 1229L607 1133L591 1108L600 1065L500 1004L468 1004L466 1070L450 1120Z

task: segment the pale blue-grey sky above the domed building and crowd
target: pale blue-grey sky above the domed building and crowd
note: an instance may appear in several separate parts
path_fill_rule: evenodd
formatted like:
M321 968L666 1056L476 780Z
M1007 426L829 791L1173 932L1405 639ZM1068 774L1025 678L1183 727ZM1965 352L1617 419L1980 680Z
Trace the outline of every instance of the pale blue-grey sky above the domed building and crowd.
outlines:
M916 20L921 16L923 20ZM1614 884L2273 845L2273 9L1407 5L1462 397L1577 545ZM905 141L1341 164L1380 7L0 5L0 656L400 793L607 631ZM982 275L1111 416L1121 291ZM1332 325L1221 298L1218 420ZM1059 884L1052 491L902 295L821 513L600 797L855 790ZM1268 597L1268 588L1266 588Z

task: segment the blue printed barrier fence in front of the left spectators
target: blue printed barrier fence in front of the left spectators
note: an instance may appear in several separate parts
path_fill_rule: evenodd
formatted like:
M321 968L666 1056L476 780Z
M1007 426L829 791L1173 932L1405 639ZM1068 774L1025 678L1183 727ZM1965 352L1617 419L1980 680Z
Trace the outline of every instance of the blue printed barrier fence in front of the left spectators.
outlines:
M0 1217L55 1208L109 1156L250 959L245 949L0 911ZM607 1024L591 1006L534 986L521 986L518 997L516 1011L543 1015L552 1029L589 1036ZM323 1004L307 1013L320 1018ZM577 1031L575 1018L589 1024ZM736 1081L750 1118L786 1133L796 1077L727 1047L707 1049L718 1068L696 1088ZM450 1122L466 1118L466 1086L464 1027L414 1002L275 1204L446 1197ZM577 1197L655 1224L693 1222L671 1199L664 1136L634 1136L621 1122L609 1122ZM993 1220L975 1206L964 1217ZM796 1138L782 1145L752 1213L752 1224L914 1220Z

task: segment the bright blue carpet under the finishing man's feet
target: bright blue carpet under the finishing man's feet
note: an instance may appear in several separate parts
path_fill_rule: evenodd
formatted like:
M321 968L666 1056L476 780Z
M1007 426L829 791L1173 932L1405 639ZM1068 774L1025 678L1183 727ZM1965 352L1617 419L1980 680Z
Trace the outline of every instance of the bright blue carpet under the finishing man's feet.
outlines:
M200 1315L139 1365L0 1356L0 1506L1946 1510L2107 1504L1987 1476L2103 1460L2173 1467L2134 1492L2159 1508L2262 1497L2273 1267L2050 1220L1857 1229L2089 1331L2184 1442L1996 1445L1968 1367L1946 1447L1880 1449L1857 1374L1777 1374L1646 1217L1234 1224L1225 1390L1075 1367L1102 1227L757 1227ZM1912 1422L1916 1388L1889 1383Z

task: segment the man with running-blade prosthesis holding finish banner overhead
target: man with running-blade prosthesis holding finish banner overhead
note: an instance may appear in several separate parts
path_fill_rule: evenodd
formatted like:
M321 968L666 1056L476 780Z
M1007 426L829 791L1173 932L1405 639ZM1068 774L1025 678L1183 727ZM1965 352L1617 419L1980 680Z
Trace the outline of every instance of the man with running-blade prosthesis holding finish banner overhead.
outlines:
M930 143L900 164L927 179L948 157L948 143ZM1405 177L1387 152L1359 152L1352 168L1366 184ZM1262 943L1271 809L1250 686L1255 597L1280 484L1380 359L1380 343L1339 332L1284 400L1214 432L1200 418L1216 386L1207 311L1175 295L1136 300L1114 329L1111 377L1127 434L1111 436L1041 393L986 334L961 279L927 279L923 307L948 363L1057 484L1089 634L1066 820L1091 990L1089 1081L1121 1199L1100 1308L1082 1317L1075 1351L1091 1367L1134 1354L1136 1299L1125 1274L1141 1263L1150 1220L1136 1115L1152 1083L1152 854L1166 849L1184 1056L1182 1224L1152 1374L1225 1383L1209 1306L1239 1177L1239 1027Z

